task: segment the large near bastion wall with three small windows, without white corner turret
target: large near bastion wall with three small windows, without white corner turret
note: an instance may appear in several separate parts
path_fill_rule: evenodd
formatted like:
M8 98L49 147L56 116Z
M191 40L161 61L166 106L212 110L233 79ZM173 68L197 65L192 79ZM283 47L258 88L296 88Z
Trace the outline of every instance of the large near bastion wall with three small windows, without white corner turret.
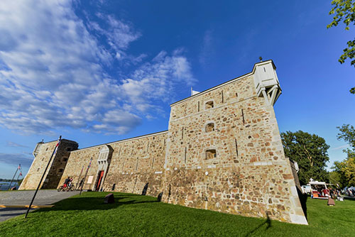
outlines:
M253 75L173 104L168 131L164 202L307 224L273 106L256 97Z

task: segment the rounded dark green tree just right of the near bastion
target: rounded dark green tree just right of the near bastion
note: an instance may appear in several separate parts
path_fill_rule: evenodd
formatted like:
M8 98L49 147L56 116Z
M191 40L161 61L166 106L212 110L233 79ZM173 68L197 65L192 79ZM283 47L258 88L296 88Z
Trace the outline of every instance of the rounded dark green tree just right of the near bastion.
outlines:
M324 138L304 131L286 131L281 133L285 155L298 163L298 177L301 184L307 184L310 178L328 182L329 174L325 167L329 161L329 145Z

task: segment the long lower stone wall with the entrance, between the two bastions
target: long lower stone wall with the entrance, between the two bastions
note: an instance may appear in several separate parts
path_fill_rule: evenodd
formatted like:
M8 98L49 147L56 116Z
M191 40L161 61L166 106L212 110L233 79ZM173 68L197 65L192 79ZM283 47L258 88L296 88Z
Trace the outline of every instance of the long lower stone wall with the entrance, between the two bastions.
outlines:
M146 194L158 195L162 190L161 180L164 170L167 133L167 131L164 131L105 144L109 145L113 151L100 189L102 187L106 191L114 190L116 192L142 194L146 186ZM102 146L84 148L70 153L60 185L65 178L72 177L77 186L77 183L84 177L92 158L92 166L89 167L84 180L84 189L96 189L100 171L98 170L97 159ZM92 183L88 183L90 176L92 176Z

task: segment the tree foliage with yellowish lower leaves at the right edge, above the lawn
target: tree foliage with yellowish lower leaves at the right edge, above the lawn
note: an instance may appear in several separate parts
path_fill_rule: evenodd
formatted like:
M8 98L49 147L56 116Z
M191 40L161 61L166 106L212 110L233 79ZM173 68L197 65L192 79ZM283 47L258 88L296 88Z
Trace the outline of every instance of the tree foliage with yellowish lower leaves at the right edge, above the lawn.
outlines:
M339 184L342 187L355 186L355 128L350 124L343 124L337 128L340 131L337 138L346 141L350 148L343 150L347 155L345 160L334 162L332 169L337 173L334 177L339 177Z

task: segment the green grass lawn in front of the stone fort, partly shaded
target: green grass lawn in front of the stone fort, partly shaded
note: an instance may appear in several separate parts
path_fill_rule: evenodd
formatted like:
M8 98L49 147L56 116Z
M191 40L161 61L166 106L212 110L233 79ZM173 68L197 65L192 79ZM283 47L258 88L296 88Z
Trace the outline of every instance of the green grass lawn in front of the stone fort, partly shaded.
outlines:
M309 226L157 202L154 197L84 192L0 223L0 236L355 236L355 201L307 199Z

